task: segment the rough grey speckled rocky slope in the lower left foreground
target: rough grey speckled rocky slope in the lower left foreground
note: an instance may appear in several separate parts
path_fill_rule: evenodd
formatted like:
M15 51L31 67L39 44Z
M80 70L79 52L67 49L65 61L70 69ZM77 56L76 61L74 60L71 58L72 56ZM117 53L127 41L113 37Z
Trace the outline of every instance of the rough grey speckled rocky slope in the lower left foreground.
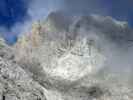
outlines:
M15 61L13 50L0 41L0 100L46 100L45 88Z

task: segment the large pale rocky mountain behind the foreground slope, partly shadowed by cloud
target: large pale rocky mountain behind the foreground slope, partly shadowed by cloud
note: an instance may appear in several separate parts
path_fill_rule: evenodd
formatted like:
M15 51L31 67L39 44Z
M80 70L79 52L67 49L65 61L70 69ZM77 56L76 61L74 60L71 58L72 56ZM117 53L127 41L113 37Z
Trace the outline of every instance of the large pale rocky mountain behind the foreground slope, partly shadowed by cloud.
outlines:
M54 12L19 38L15 61L48 90L47 100L132 100L132 35L110 17Z

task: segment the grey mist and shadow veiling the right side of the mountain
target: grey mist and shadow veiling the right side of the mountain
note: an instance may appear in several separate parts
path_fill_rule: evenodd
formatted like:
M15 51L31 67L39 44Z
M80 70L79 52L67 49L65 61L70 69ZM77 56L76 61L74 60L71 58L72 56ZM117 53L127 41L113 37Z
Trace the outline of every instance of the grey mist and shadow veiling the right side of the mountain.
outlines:
M108 77L108 74L114 75L112 77L117 78L121 83L125 81L126 84L132 84L133 30L126 22L118 22L105 16L93 15L89 21L82 22L78 33L82 38L88 37L94 40L96 47L101 48L99 52L105 57L100 68L94 67L99 68L100 74L105 72L105 77Z

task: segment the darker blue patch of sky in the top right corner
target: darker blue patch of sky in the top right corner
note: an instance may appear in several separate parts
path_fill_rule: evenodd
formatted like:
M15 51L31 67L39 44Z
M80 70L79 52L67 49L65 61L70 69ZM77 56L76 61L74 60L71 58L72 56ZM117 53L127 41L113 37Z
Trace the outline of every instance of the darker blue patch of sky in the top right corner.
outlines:
M133 0L103 0L108 14L133 26Z

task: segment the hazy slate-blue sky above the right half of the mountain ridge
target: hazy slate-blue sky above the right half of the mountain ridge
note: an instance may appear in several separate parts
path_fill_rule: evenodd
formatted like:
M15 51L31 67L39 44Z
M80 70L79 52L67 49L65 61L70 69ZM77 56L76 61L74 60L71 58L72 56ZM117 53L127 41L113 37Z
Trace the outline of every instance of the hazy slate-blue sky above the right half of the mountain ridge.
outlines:
M112 16L133 26L133 0L66 0L66 5L69 11Z

